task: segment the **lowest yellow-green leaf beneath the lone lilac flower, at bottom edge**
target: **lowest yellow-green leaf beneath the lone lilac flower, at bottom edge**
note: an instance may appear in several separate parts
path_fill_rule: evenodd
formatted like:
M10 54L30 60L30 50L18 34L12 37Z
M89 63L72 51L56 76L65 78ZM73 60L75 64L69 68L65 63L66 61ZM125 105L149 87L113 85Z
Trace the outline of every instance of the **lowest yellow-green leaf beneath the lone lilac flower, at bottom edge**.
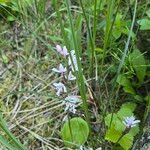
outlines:
M133 144L133 136L131 136L130 134L124 135L119 141L119 144L122 148L124 148L124 150L129 150Z

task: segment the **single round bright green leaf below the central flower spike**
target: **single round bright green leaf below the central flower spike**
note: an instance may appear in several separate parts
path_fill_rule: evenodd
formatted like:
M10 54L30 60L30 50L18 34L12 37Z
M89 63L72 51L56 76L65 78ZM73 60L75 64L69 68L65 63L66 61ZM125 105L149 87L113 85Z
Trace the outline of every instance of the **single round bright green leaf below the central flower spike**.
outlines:
M88 135L88 124L80 117L67 121L61 129L62 139L70 148L83 145L87 141Z

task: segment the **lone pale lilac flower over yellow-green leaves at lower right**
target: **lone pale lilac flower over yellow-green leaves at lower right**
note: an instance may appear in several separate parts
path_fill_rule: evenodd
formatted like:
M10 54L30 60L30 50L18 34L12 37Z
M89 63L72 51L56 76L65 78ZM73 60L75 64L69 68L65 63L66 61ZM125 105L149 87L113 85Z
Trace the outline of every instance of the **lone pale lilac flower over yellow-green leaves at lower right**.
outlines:
M135 120L135 117L134 117L134 116L126 117L126 118L124 119L124 121L123 121L124 125L125 125L127 128L135 127L139 122L140 122L140 120Z

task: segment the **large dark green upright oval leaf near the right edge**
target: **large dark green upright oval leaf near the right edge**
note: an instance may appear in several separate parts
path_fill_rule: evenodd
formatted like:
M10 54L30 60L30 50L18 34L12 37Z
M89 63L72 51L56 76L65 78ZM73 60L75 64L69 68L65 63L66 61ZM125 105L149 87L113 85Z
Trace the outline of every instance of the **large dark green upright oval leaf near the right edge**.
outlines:
M136 76L139 79L139 83L142 83L146 75L146 62L142 53L135 49L130 54L130 63L136 72Z

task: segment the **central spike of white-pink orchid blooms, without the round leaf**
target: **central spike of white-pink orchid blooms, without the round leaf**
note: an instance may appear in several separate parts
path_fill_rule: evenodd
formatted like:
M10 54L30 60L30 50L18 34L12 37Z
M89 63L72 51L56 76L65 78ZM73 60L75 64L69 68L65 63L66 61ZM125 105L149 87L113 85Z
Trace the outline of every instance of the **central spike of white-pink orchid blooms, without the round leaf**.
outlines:
M78 71L78 65L77 65L77 59L75 55L75 51L71 50L70 54L66 48L66 46L61 47L60 45L56 45L56 51L63 56L65 59L68 60L68 70L67 67L65 67L62 63L59 64L57 68L53 68L52 71L58 74L61 74L63 76L63 79L66 79L67 82L76 80L76 76L74 75L75 71ZM63 93L67 93L67 88L64 83L58 82L53 83L53 86L56 90L56 95L61 96ZM79 104L80 99L79 96L76 95L69 95L67 96L63 104L65 105L64 110L66 112L76 113L76 107Z

